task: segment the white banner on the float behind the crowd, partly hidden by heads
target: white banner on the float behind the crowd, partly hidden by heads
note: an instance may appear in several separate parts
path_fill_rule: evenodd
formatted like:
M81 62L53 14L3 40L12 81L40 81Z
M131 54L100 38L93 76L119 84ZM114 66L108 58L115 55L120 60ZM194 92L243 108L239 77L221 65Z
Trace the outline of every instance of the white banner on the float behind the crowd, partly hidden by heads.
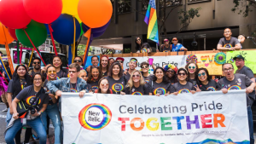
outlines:
M127 69L128 63L130 62L131 58L136 58L138 61L138 66L137 66L137 70L141 69L141 63L143 61L147 61L148 58L153 58L154 61L154 66L163 66L163 65L167 65L167 64L172 64L175 65L177 67L184 67L186 66L186 58L188 55L171 55L171 56L146 56L146 57L123 57L125 59L124 61L124 70ZM114 60L116 59L116 57L113 57ZM153 69L150 66L150 73L153 74Z

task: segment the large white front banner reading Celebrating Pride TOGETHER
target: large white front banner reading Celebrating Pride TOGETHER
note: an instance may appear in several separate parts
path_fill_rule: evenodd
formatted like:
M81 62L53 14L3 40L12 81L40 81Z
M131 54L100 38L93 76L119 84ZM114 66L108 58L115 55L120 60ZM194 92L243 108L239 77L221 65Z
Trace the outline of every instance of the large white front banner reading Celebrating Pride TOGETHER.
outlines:
M62 93L65 144L249 144L245 90L195 95Z

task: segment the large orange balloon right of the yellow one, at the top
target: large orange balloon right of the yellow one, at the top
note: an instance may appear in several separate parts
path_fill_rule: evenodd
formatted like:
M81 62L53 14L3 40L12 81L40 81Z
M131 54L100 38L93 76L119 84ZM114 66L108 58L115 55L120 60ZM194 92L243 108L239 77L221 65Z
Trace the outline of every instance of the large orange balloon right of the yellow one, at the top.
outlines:
M102 27L113 13L110 0L79 0L79 18L90 28Z

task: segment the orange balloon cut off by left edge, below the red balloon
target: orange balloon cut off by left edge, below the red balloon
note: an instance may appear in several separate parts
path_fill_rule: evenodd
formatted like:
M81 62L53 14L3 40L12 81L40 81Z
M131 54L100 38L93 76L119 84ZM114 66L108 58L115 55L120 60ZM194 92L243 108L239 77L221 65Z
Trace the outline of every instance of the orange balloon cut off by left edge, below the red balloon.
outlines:
M0 22L0 44L5 44L5 43L12 43L14 42L14 38L10 36L8 32L8 28L3 26L3 24Z

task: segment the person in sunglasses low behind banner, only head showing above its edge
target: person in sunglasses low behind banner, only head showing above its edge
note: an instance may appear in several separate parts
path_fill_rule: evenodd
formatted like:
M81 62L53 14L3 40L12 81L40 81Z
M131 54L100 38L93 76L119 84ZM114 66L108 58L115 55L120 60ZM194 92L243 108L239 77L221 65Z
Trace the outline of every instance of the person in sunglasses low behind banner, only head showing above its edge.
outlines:
M113 94L112 89L109 89L109 83L107 78L101 78L99 80L98 88L94 93L101 93L101 94Z

